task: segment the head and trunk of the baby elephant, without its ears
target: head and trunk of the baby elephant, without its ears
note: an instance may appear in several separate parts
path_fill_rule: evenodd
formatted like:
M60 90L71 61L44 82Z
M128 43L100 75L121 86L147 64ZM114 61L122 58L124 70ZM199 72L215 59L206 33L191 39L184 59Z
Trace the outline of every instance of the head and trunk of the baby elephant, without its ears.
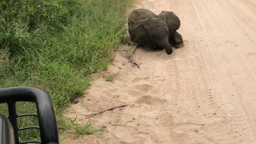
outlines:
M138 20L146 30L151 40L159 47L165 48L167 54L172 54L172 46L169 43L169 30L164 19L150 17Z

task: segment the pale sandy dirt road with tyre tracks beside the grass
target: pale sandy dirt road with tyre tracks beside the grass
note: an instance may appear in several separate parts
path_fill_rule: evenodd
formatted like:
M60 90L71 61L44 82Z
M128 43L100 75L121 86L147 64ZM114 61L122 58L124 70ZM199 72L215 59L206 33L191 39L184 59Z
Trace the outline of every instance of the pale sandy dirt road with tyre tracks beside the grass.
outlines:
M109 73L70 108L103 130L65 143L256 143L256 1L145 0L138 7L173 11L185 47L172 55L143 48L134 68L116 53ZM125 64L126 63L126 64ZM90 111L87 111L87 108Z

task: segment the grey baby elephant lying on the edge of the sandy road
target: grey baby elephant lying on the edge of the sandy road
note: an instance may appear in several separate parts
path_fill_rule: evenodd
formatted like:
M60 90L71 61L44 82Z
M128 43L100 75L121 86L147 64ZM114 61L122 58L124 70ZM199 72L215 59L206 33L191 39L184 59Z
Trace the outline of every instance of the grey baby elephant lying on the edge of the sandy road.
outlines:
M137 44L165 49L167 54L172 54L172 46L184 46L182 36L176 31L180 28L180 19L173 12L162 11L156 15L146 9L136 9L128 18L128 26Z

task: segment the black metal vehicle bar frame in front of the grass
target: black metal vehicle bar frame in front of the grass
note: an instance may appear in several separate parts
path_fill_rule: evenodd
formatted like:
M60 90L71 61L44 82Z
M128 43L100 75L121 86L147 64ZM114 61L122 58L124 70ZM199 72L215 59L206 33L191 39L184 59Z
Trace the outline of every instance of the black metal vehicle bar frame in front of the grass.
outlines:
M15 104L18 101L34 102L37 114L17 115ZM0 89L0 103L7 103L9 116L0 114L0 144L59 143L58 128L49 94L36 87L8 87ZM17 118L35 116L39 126L18 127ZM39 129L41 141L19 141L19 131Z

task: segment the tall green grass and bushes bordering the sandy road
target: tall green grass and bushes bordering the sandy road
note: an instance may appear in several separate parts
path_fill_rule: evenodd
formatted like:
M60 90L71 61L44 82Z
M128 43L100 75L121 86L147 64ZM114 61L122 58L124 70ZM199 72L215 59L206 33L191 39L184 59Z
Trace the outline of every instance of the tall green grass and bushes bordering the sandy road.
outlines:
M88 89L91 73L107 69L124 39L125 12L133 1L0 0L0 87L39 87L51 95L60 132L93 133L90 124L75 127L74 119L63 118L64 109ZM34 104L17 107L19 114L35 113ZM19 125L24 122L37 123L23 118ZM20 135L38 139L37 133Z

